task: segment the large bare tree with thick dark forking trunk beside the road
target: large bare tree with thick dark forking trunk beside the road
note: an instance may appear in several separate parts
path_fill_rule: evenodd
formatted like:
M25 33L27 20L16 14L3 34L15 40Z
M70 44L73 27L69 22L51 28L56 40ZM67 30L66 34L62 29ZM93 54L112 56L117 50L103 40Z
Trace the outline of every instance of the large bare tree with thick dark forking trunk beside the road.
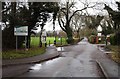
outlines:
M82 9L80 10L72 10L73 7L75 5L75 2L66 2L65 6L62 7L60 10L59 10L59 14L58 14L58 22L59 22L59 25L61 27L61 29L66 32L67 34L67 42L68 44L72 44L74 42L73 40L73 31L72 31L72 28L70 27L70 22L73 18L73 16L77 13L77 12L81 12L87 8L91 8L91 7L94 7L95 5L93 6L85 6L83 7Z

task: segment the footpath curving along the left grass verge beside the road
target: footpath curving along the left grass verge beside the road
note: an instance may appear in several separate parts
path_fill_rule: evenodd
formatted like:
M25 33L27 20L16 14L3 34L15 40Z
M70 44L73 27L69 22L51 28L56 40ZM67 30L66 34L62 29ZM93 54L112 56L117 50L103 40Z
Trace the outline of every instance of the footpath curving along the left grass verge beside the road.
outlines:
M52 59L59 55L60 54L57 51L55 46L49 46L46 48L46 52L42 55L28 57L28 58L21 58L21 59L2 60L2 66L4 67L9 65L37 63L37 62Z

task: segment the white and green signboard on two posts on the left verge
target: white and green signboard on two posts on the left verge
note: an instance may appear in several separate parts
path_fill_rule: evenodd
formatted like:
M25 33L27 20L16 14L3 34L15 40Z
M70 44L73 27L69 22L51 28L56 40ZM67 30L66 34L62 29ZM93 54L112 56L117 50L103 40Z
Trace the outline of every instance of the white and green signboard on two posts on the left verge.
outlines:
M27 37L28 36L28 26L16 26L14 27L14 35L16 36L16 51L17 47L17 38L18 36L25 36L25 49L27 49Z

